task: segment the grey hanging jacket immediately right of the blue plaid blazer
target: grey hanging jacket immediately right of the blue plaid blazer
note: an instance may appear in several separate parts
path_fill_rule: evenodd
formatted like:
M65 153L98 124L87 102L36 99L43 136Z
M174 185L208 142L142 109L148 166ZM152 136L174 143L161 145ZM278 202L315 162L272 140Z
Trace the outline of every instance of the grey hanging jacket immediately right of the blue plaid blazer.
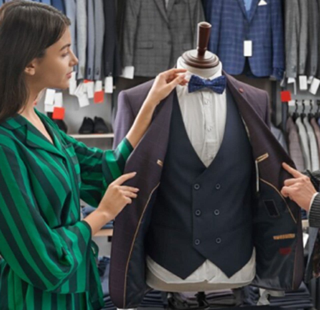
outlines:
M299 0L285 1L285 50L286 77L297 76L298 43L300 38Z

